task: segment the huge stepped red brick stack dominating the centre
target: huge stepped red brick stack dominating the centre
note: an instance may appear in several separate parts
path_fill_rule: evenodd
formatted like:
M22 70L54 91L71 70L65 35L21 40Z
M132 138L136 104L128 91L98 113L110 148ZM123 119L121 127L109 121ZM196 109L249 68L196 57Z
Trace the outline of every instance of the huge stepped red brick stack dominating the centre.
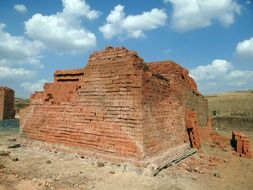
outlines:
M145 63L136 52L107 47L86 67L54 73L20 114L30 139L79 147L84 154L145 167L199 148L207 101L175 62ZM158 161L158 162L159 162Z

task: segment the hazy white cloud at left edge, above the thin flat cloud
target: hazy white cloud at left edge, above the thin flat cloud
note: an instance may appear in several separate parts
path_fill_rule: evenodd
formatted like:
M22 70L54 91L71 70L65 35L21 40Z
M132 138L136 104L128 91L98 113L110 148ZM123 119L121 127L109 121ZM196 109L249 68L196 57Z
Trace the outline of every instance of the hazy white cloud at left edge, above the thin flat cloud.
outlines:
M5 32L5 24L0 23L0 65L29 63L40 64L39 55L43 45L38 41L12 36Z

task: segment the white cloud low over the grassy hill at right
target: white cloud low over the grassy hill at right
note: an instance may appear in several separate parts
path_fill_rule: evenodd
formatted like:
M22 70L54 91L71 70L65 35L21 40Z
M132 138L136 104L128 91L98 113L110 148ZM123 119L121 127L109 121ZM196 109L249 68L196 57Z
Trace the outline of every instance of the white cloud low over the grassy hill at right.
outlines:
M204 93L252 88L253 71L235 69L227 60L213 60L190 70L190 75Z

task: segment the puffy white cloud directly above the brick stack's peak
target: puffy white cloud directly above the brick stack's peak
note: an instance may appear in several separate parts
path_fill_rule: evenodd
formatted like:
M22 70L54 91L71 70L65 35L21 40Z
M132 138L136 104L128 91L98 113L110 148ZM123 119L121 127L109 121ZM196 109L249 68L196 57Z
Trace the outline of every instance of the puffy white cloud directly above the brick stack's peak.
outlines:
M154 8L139 15L125 15L124 6L117 5L106 18L106 23L99 27L104 38L111 39L115 36L140 38L144 31L153 30L165 25L167 15L164 10Z

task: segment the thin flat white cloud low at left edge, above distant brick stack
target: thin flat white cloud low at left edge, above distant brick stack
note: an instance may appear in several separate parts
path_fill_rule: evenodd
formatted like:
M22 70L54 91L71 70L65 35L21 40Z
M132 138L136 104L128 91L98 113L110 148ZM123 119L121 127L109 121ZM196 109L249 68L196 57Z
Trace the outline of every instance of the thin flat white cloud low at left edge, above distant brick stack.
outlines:
M8 66L0 66L0 79L20 79L30 78L35 75L34 71L27 70L24 68L11 68Z

